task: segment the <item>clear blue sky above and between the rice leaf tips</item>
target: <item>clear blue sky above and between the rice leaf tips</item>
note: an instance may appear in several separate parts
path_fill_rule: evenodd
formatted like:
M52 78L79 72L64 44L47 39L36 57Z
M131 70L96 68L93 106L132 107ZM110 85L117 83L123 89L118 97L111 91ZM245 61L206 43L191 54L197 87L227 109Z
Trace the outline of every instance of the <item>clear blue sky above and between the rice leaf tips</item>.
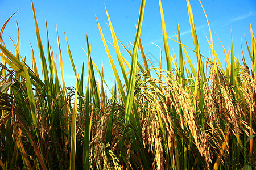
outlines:
M136 33L135 25L138 22L138 14L140 1L34 1L36 17L38 19L40 35L46 51L46 22L48 25L49 42L53 49L53 55L57 56L57 66L59 67L59 56L57 51L57 35L56 25L59 31L60 46L64 63L64 79L67 86L75 86L75 75L73 74L72 66L69 61L67 44L65 42L64 31L67 35L69 46L73 59L76 63L79 73L81 73L82 62L85 61L85 76L87 74L87 56L82 50L82 47L86 49L86 34L89 40L92 39L92 59L98 67L101 66L101 61L104 64L105 79L110 83L110 79L114 80L114 75L109 64L108 56L105 52L100 33L98 31L95 15L97 16L105 39L113 43L112 36L110 35L110 29L108 25L108 19L106 17L105 6L109 12L110 19L114 27L115 34L127 47L134 43L134 37ZM216 49L218 57L224 63L224 52L220 41L220 38L224 48L228 50L231 46L230 42L230 30L232 28L234 55L242 57L241 53L241 40L243 44L243 50L245 53L246 62L251 66L250 57L246 50L245 37L250 43L250 23L253 27L254 34L256 33L256 1L240 1L240 0L208 0L202 1L205 11L207 12L210 27L213 33L213 45ZM164 18L166 20L166 28L168 37L175 39L174 32L177 32L177 22L179 22L181 32L181 42L183 44L194 48L192 35L190 31L188 10L186 1L162 1ZM197 0L191 1L193 16L195 20L195 26L197 30L197 36L200 40L200 52L205 56L209 56L209 45L205 37L209 39L209 29L207 20L200 2ZM5 31L3 32L2 39L6 44L6 48L15 51L11 39L16 42L17 28L16 21L19 25L20 39L21 39L21 55L24 58L27 57L27 64L31 66L31 46L33 46L35 52L35 58L38 66L40 65L40 57L38 52L38 45L36 40L35 24L32 14L32 7L30 1L8 1L0 0L0 27L5 21L16 11L20 9L14 17L7 24ZM163 37L162 37L162 25L160 20L160 9L158 1L146 1L146 8L144 11L144 19L142 24L141 40L144 46L144 52L149 54L151 58L154 58L155 66L159 67L160 50L157 46L160 46L163 50ZM216 34L217 36L216 36ZM130 44L131 42L131 44ZM169 40L170 50L178 55L176 42ZM119 63L115 56L115 51L110 43L108 43L110 53L114 59L115 65L119 67ZM121 44L119 45L121 47ZM123 56L130 61L129 55L121 48ZM196 63L196 55L189 53L193 62ZM172 54L173 56L173 54ZM177 58L178 59L178 58ZM139 56L138 61L141 61ZM241 61L241 60L240 60ZM166 67L165 64L162 66ZM61 79L61 78L60 78Z

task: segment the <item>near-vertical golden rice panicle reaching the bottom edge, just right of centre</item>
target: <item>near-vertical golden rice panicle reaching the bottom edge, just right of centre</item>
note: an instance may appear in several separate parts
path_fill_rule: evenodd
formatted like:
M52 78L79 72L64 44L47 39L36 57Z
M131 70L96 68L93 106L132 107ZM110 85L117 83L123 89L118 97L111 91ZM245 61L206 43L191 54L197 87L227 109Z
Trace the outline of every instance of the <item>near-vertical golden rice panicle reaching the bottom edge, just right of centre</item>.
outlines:
M148 152L152 152L155 154L155 160L152 163L152 167L156 169L164 168L164 157L163 157L163 146L162 146L162 133L160 129L159 122L159 114L160 118L163 121L163 124L166 125L167 135L171 135L171 130L169 126L169 122L167 121L166 114L168 108L164 102L159 101L158 95L160 93L158 87L151 86L152 84L160 84L159 80L150 78L150 83L145 83L143 86L142 96L146 99L147 105L143 105L143 107L147 107L144 109L139 109L143 111L147 111L146 117L144 118L143 127L142 127L142 137L143 143L145 147L148 148Z

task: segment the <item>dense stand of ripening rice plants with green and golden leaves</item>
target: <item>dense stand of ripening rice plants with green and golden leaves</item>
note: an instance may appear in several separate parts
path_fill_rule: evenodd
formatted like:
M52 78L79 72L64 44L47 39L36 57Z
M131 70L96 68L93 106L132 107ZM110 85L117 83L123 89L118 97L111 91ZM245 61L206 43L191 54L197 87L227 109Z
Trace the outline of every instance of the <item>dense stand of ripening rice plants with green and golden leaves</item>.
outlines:
M32 1L43 78L39 77L32 46L31 67L26 65L26 56L20 55L18 24L17 42L11 39L15 54L6 49L3 30L13 15L6 21L0 32L2 169L255 168L256 41L251 25L251 44L246 40L251 71L245 63L242 46L242 63L234 56L232 33L231 49L227 52L222 45L226 59L225 67L222 67L202 3L210 33L208 58L200 53L189 0L187 7L194 48L181 42L179 23L177 39L167 36L159 0L167 70L161 69L162 49L160 68L152 66L149 69L148 62L151 62L144 54L140 38L145 4L142 0L133 49L119 41L106 9L122 74L117 72L96 17L115 77L115 82L108 88L109 97L104 89L104 84L106 87L108 84L104 80L103 66L98 69L93 62L93 56L90 56L92 42L88 37L85 50L88 79L84 80L84 63L79 75L65 34L76 76L75 88L69 88L64 81L59 35L57 33L61 80L49 45L47 23L45 51ZM177 55L174 52L171 55L170 40L179 46L178 62ZM122 56L120 44L131 57L131 63ZM187 50L195 53L197 67L192 64ZM143 65L137 61L139 52Z

